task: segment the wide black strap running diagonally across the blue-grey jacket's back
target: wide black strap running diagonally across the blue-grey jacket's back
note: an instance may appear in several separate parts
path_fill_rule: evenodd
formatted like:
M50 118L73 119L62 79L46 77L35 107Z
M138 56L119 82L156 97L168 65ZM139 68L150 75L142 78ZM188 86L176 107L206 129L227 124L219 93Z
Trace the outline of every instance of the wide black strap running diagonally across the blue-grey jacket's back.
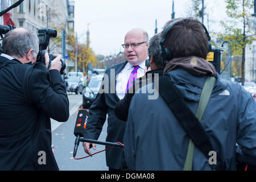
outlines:
M172 113L176 116L177 120L180 122L183 129L189 135L193 143L199 150L201 150L204 155L209 158L209 151L214 150L210 139L205 132L203 126L196 118L195 114L189 109L183 96L180 94L176 86L171 82L170 78L164 76L159 78L159 93L163 97L168 107L172 110ZM217 158L217 164L210 165L214 170L221 171L222 162L220 158Z

